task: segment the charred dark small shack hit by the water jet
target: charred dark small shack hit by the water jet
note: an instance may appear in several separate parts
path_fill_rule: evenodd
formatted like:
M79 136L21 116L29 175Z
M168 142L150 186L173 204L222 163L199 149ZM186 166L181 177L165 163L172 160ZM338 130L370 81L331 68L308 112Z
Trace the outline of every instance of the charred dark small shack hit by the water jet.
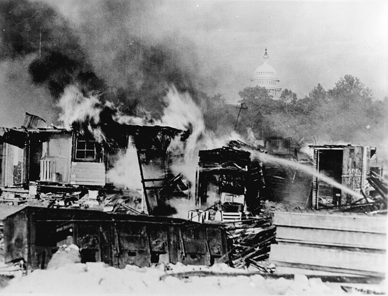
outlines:
M252 163L251 153L246 150L264 152L241 141L230 141L222 148L199 151L196 205L208 207L218 203L215 209L219 217L216 214L215 220L241 220L247 205L254 205L263 187L261 165Z

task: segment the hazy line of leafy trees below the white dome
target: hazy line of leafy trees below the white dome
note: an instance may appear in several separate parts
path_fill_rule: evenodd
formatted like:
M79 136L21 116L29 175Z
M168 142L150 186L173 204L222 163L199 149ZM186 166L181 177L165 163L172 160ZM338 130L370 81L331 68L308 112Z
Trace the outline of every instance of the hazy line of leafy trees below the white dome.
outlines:
M388 97L375 100L371 89L357 77L345 75L333 89L315 86L304 98L284 89L280 99L255 86L239 91L248 109L242 110L236 131L251 128L257 139L292 137L300 141L336 141L380 145L386 140ZM205 122L222 133L233 129L238 110L221 95L206 100Z

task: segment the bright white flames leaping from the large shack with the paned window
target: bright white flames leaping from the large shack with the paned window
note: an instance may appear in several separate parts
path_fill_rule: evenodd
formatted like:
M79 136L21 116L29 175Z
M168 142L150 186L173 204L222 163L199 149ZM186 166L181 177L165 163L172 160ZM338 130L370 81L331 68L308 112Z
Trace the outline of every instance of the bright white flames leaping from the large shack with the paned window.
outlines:
M189 93L181 93L173 85L168 89L164 100L167 107L160 120L152 120L145 110L139 110L142 117L133 117L120 113L110 102L101 103L97 95L84 96L76 85L72 85L66 87L59 101L58 105L62 109L59 120L67 128L71 127L73 122L87 123L88 130L99 142L106 141L106 135L99 127L100 113L104 107L115 111L113 119L120 124L169 126L188 131L189 136L186 141L181 141L180 136L172 139L168 152L172 158L173 174L184 174L185 178L191 182L191 190L194 191L195 174L199 161L198 151L220 148L232 139L241 140L241 137L233 131L229 136L218 138L212 131L206 130L200 107L192 100ZM142 188L134 146L129 143L126 151L113 155L113 158L116 158L114 167L107 172L109 181L126 188ZM185 202L182 202L180 205L178 215L187 215L187 210L192 210L194 207L194 205L187 204L185 208L184 204Z

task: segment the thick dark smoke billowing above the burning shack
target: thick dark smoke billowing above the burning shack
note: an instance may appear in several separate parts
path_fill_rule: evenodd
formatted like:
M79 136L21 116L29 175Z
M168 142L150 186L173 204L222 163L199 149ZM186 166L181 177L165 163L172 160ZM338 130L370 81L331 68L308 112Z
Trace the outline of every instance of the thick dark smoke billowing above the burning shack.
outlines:
M137 36L139 29L128 28L128 19L152 5L120 1L86 5L91 15L75 24L47 3L2 1L1 59L35 55L28 66L31 83L46 86L53 104L70 84L85 96L98 94L102 103L113 102L123 114L148 112L153 119L163 116L163 97L171 84L189 92L197 103L206 98L202 91L206 79L196 76L195 46L189 40L183 36L177 40L175 33L144 39Z

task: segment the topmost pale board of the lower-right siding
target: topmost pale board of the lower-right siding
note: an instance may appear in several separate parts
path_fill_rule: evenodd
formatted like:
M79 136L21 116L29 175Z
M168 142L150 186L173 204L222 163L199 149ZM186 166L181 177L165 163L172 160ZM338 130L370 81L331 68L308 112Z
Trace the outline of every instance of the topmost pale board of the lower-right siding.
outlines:
M274 212L273 223L277 226L386 233L386 217L359 213Z

